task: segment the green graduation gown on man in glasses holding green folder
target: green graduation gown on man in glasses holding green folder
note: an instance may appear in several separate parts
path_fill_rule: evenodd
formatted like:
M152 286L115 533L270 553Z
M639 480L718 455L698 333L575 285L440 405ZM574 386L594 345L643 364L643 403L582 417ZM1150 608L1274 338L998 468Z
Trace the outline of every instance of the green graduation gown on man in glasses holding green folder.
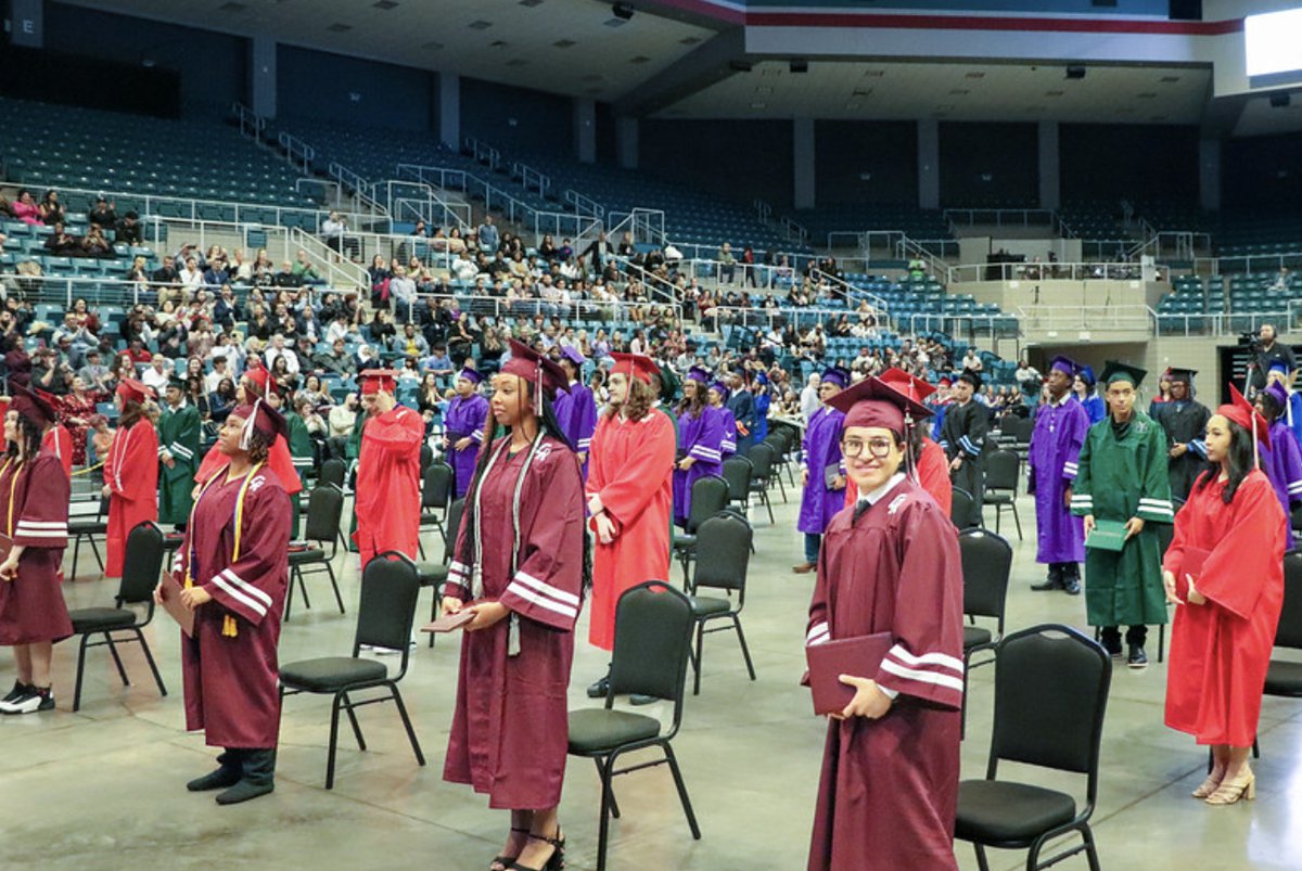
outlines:
M1118 436L1112 415L1092 427L1077 461L1072 513L1096 521L1144 521L1121 551L1086 548L1085 607L1091 626L1156 626L1167 622L1161 543L1155 523L1176 519L1167 477L1167 434L1135 411Z

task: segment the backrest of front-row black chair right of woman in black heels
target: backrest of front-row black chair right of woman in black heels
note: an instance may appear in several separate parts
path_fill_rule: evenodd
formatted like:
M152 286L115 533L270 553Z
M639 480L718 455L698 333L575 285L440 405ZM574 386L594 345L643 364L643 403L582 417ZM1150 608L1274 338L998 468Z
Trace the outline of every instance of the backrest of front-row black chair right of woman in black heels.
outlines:
M664 581L647 581L626 590L615 604L615 648L611 654L611 691L673 700L673 723L682 708L682 686L691 650L691 603Z

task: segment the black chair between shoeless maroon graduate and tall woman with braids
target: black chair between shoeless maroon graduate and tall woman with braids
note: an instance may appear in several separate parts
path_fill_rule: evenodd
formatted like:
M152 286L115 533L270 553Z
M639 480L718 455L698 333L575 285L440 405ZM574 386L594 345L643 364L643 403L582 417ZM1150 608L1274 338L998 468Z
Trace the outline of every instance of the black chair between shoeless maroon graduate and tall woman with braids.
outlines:
M339 750L339 712L342 708L353 726L359 750L366 750L366 740L357 721L355 708L392 700L397 704L408 741L419 764L424 754L417 741L415 729L408 716L398 681L406 674L411 624L415 620L415 600L421 592L415 564L396 551L385 551L366 564L362 572L362 595L357 607L357 633L353 637L352 656L323 656L305 659L280 667L280 700L284 712L286 695L316 693L331 695L329 749L326 758L326 789L335 786L335 755ZM401 651L397 674L389 677L384 663L359 656L362 646ZM387 689L388 693L362 700L352 694L362 690Z

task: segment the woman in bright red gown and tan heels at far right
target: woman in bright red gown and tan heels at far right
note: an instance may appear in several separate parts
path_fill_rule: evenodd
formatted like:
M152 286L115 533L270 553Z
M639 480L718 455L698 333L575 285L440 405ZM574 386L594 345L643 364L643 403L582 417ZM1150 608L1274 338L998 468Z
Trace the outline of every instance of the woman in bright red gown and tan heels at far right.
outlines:
M1167 725L1211 746L1212 771L1194 790L1208 805L1255 793L1247 754L1284 607L1284 509L1254 461L1267 424L1233 385L1230 393L1234 402L1207 422L1213 467L1176 514L1161 573L1177 605Z

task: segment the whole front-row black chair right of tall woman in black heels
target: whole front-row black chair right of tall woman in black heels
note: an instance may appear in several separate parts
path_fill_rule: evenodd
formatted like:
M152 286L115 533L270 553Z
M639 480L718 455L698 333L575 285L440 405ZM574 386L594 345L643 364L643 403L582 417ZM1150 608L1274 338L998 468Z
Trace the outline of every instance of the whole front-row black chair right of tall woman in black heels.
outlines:
M605 707L569 712L569 753L596 762L602 779L602 810L596 841L596 870L605 871L607 841L611 818L620 816L611 785L616 775L626 775L655 766L669 766L682 811L687 816L691 837L700 840L697 815L682 782L678 760L671 741L682 724L682 695L687 659L691 655L691 628L695 617L691 601L664 581L647 581L624 592L615 607L615 650L611 657L609 691ZM667 732L660 720L616 711L615 697L650 695L673 702L673 717ZM634 750L660 747L663 759L616 768L620 756Z

